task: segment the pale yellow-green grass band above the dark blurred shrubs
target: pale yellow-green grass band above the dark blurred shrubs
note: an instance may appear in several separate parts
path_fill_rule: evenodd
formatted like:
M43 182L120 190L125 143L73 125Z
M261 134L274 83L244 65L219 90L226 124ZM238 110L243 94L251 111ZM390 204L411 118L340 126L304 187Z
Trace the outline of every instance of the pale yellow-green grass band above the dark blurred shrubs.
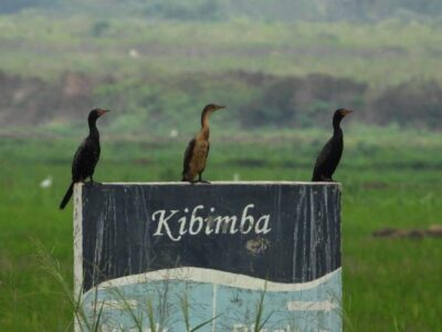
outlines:
M97 25L106 27L99 35ZM45 79L66 70L128 77L238 69L283 76L319 72L381 90L414 77L442 82L441 27L436 20L178 22L28 12L0 15L0 70ZM138 59L128 55L131 49Z

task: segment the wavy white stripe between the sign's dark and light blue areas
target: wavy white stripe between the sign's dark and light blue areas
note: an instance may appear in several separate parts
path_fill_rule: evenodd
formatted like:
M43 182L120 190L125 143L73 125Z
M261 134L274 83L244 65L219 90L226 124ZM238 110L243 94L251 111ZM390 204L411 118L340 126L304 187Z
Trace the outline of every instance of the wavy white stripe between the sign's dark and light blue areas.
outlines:
M227 287L236 287L250 290L265 290L269 292L277 291L301 291L308 290L332 279L334 276L340 273L340 268L335 271L325 274L318 279L302 282L302 283L282 283L282 282L271 282L264 279L259 279L254 277L235 274L231 272L202 269L202 268L176 268L176 269L165 269L141 274L133 274L128 277L122 277L113 280L102 282L98 288L115 288L123 287L127 284L146 283L151 281L164 281L164 280L179 280L179 281L192 281L192 282L207 282L214 283ZM95 288L87 291L95 292Z

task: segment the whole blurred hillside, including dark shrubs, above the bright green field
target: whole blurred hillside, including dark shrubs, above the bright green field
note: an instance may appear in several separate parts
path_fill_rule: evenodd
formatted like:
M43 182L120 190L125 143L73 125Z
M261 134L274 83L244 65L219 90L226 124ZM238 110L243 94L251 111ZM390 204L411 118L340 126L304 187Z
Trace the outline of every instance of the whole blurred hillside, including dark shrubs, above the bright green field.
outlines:
M192 132L204 104L229 128L442 128L440 1L7 0L0 127L63 133L95 106L115 132Z

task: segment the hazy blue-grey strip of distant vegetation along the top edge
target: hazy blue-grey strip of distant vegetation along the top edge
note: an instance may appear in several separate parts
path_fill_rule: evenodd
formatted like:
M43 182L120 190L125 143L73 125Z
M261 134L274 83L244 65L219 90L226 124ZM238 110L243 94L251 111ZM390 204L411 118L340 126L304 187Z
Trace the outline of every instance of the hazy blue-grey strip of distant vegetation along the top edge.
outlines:
M439 17L438 0L3 0L0 12L39 9L49 12L94 15L138 15L176 20L221 20L249 17L253 20L372 21L391 17Z

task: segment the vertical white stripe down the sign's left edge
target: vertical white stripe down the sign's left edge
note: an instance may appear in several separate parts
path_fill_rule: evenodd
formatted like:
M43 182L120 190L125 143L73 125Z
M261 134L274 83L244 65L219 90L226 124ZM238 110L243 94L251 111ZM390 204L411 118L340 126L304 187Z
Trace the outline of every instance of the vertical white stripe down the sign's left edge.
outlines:
M83 292L83 200L82 185L74 185L74 299ZM74 318L74 331L80 332L80 322Z

